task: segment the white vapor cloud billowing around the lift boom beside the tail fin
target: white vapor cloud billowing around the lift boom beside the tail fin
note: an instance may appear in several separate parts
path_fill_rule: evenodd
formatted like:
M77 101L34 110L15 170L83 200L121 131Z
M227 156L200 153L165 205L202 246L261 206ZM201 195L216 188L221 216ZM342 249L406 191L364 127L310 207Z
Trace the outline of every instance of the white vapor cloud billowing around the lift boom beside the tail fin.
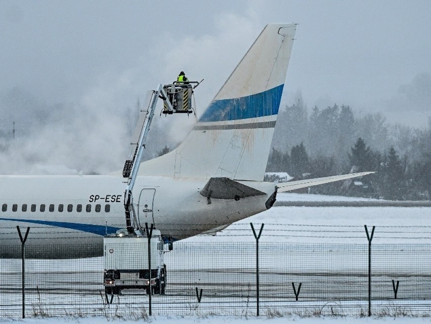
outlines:
M104 174L120 170L130 150L137 98L142 105L145 90L172 82L184 70L189 79L205 78L195 90L200 115L260 31L262 26L254 20L252 12L221 14L204 35L162 35L137 64L122 72L100 74L75 103L48 105L24 88L0 90L0 173ZM178 144L195 123L194 117L184 114L159 118L159 111L146 158L165 145Z

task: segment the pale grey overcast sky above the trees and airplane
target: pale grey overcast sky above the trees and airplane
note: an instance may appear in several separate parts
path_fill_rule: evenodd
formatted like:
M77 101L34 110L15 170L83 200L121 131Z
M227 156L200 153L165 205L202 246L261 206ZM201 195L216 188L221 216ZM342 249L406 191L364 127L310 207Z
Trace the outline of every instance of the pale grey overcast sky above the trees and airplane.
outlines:
M0 131L16 121L25 133L33 119L62 128L58 120L91 111L104 115L102 132L110 115L130 114L137 98L181 70L205 79L196 89L200 113L270 22L298 23L283 104L300 91L309 108L349 104L424 127L430 13L429 0L0 0Z

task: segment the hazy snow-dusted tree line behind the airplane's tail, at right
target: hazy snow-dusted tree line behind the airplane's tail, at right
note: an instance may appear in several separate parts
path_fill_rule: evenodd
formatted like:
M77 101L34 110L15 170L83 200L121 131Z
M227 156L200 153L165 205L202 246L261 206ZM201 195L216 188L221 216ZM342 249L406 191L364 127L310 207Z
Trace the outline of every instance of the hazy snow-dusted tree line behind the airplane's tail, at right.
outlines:
M311 192L383 199L429 199L431 130L387 123L380 113L359 115L350 106L314 107L300 97L279 112L267 172L295 179L350 172L377 173L316 186Z

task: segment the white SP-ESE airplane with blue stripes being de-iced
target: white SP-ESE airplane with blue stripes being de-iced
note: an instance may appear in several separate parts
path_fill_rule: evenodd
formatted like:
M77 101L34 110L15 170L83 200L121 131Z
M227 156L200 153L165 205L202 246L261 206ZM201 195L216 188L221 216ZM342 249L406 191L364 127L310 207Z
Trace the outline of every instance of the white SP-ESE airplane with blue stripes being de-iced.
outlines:
M185 140L141 163L133 189L140 224L173 240L215 234L270 209L278 192L369 173L263 181L295 30L268 24ZM17 225L31 227L27 258L102 256L103 237L125 227L124 188L121 172L0 176L0 258L21 256Z

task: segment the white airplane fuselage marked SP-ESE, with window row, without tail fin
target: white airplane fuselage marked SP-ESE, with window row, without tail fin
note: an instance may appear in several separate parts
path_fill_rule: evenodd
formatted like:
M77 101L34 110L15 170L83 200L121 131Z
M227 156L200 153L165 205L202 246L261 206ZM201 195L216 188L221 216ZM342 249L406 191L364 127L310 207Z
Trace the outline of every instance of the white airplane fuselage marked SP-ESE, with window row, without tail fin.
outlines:
M23 232L30 227L26 242L30 258L100 256L103 236L125 228L125 179L120 176L1 176L0 180L0 257L20 254L17 225ZM140 225L152 223L174 240L215 233L266 210L275 188L268 182L239 181L266 194L238 201L208 200L199 193L206 182L138 177L133 203Z

